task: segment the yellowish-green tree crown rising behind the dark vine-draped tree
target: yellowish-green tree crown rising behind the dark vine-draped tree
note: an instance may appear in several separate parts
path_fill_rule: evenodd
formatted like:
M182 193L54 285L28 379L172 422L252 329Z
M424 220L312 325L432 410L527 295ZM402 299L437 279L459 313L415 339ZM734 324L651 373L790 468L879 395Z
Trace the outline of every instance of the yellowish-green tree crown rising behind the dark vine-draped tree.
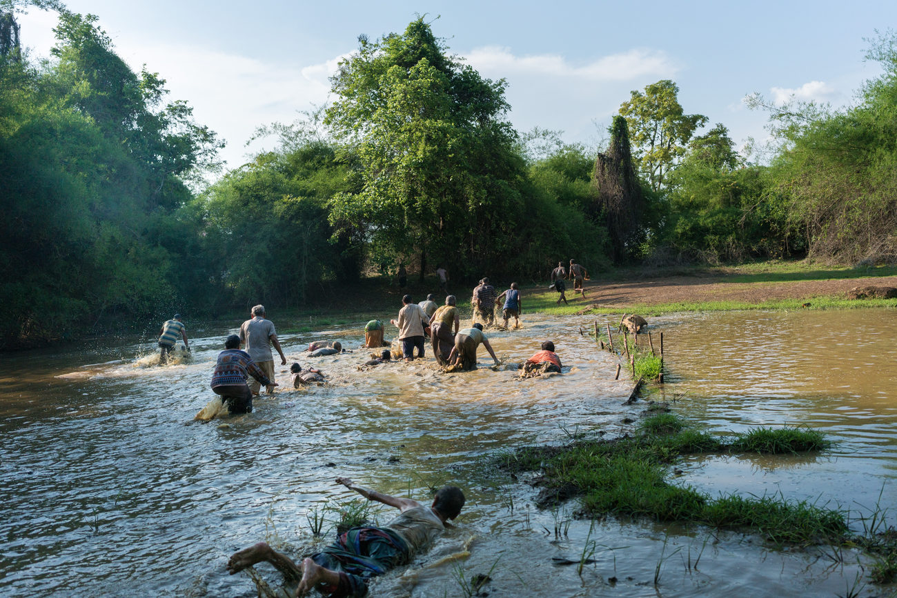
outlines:
M700 114L684 114L677 98L679 87L668 79L631 91L620 105L629 124L633 155L651 189L659 191L666 176L684 155L695 129L707 122Z

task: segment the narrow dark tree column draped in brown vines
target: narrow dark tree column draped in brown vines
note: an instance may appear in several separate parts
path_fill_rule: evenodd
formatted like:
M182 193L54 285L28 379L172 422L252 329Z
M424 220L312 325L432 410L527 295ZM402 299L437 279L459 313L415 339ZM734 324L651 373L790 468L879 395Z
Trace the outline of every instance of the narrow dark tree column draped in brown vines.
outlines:
M597 204L607 221L614 263L620 264L635 252L643 237L641 212L644 198L632 162L629 127L623 117L614 117L607 152L598 153L592 185Z

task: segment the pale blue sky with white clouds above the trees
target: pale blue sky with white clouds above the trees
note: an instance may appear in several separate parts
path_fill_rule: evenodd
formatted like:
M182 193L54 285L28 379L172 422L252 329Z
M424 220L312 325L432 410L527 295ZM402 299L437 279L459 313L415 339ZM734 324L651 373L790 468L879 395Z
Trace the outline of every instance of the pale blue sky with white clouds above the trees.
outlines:
M607 126L632 90L661 79L679 86L687 114L721 123L740 147L762 141L768 100L848 105L881 73L864 59L868 39L897 23L897 2L273 2L69 0L134 69L166 80L196 121L218 133L229 168L252 152L258 126L289 123L334 101L328 78L358 36L402 32L419 15L451 54L485 78L505 79L509 121L520 132L562 131L567 143L605 149ZM19 15L22 45L49 56L56 14Z

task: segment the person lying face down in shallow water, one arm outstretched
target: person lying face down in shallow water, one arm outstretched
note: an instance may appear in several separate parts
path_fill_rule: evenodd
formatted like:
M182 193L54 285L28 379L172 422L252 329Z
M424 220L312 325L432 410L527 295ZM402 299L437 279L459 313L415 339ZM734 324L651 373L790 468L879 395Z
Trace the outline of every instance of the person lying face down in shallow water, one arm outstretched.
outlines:
M391 497L376 490L356 486L348 478L336 478L349 490L355 490L368 500L376 500L396 507L399 515L383 527L353 527L337 536L323 551L296 565L286 555L259 542L255 546L235 552L228 560L231 575L267 561L283 573L284 579L298 581L296 595L313 587L331 598L363 596L368 593L370 577L386 573L388 569L405 565L440 534L448 519L454 519L464 507L464 493L457 486L445 486L436 493L433 503L426 507L410 498Z

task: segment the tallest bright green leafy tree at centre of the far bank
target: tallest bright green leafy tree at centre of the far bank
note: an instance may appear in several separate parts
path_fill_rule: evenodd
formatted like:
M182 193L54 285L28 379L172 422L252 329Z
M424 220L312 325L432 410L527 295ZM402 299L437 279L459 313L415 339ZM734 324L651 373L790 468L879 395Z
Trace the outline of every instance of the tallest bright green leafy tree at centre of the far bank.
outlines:
M357 154L362 185L335 198L331 221L363 222L373 255L418 257L422 275L428 262L470 272L509 252L525 170L505 82L447 56L422 19L359 41L326 122Z

